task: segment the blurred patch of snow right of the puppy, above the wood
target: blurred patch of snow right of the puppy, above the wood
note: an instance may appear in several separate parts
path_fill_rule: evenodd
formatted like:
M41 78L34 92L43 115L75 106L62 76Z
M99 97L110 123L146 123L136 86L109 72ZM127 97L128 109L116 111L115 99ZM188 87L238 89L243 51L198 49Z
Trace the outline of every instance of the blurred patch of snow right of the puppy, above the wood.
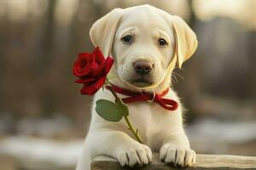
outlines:
M242 144L256 140L256 122L200 120L187 127L189 139Z

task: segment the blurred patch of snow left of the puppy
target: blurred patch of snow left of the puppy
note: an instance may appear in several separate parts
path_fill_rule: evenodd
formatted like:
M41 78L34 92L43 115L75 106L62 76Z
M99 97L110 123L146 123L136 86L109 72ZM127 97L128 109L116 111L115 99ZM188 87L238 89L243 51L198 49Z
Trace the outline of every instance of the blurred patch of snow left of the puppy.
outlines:
M60 166L74 166L82 151L83 139L57 142L49 139L9 137L0 140L0 154L30 161L43 161Z

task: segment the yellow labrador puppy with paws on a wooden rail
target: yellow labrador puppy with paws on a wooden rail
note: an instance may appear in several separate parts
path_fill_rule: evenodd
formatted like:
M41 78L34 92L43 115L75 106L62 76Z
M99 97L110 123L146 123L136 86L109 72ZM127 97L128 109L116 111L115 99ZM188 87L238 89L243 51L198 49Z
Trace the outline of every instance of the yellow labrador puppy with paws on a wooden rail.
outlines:
M175 65L181 67L197 48L194 31L180 17L150 5L113 9L94 23L90 38L104 56L115 59L110 71L116 77L113 85L155 94L170 87ZM77 170L89 170L90 161L99 155L112 156L122 166L145 165L152 161L152 151L160 152L160 159L166 163L191 166L195 151L190 149L183 130L182 105L172 89L164 98L177 101L177 109L169 111L148 101L128 104L131 122L143 139L144 144L140 144L124 120L107 122L98 116L97 99L114 101L108 90L98 91Z

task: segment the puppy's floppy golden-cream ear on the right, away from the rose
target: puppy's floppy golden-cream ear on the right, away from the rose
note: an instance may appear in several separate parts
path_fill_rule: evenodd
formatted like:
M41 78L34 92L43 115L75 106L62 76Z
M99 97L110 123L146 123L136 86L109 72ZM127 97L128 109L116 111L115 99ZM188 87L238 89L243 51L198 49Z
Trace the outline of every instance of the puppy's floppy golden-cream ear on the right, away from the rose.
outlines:
M181 68L183 62L195 53L197 39L195 32L179 16L172 15L172 27L176 41L177 65Z

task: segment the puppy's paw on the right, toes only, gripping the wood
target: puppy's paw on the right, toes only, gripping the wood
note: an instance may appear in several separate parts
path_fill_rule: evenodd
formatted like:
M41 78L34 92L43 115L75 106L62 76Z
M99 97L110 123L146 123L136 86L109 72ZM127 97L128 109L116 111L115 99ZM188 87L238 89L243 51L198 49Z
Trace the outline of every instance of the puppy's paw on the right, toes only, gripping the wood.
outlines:
M181 146L165 144L160 149L160 160L174 167L189 167L195 163L195 151Z

